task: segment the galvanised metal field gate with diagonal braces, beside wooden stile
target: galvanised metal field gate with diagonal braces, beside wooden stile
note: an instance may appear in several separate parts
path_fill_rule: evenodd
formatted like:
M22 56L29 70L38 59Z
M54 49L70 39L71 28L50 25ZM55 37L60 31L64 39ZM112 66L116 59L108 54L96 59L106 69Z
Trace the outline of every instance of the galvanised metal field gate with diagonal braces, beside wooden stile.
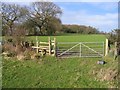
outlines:
M104 42L58 42L57 57L103 57Z

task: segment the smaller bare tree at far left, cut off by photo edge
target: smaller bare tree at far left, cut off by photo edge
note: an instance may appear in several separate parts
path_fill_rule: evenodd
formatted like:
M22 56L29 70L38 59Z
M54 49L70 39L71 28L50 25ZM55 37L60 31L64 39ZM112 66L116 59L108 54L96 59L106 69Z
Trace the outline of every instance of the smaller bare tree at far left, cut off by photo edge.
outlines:
M2 23L3 29L7 30L10 35L13 34L13 27L15 23L27 15L28 10L17 4L2 3Z

